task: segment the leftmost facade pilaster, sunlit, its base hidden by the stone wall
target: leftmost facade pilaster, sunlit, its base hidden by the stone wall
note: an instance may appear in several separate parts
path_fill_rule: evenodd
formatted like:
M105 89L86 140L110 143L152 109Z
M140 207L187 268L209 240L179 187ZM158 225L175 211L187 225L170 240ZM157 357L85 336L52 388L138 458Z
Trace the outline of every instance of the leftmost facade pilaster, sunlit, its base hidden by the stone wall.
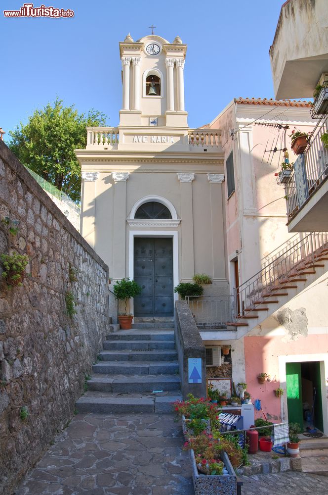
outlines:
M91 247L94 247L95 242L96 181L98 177L98 172L82 172L80 231Z

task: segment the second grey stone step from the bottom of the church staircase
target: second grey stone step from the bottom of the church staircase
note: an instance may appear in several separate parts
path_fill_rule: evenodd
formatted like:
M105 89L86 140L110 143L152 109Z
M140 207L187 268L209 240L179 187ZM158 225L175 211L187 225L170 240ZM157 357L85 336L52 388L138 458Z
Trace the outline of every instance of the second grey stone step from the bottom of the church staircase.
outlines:
M153 393L180 390L179 375L106 375L96 373L88 382L88 390L98 392Z

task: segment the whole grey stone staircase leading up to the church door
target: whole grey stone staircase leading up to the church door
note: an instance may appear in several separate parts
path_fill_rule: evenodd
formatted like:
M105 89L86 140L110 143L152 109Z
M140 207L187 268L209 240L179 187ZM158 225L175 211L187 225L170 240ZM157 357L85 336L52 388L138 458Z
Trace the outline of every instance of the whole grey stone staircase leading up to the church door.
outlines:
M181 393L172 323L142 326L107 335L87 392L76 403L79 412L173 412L171 402Z

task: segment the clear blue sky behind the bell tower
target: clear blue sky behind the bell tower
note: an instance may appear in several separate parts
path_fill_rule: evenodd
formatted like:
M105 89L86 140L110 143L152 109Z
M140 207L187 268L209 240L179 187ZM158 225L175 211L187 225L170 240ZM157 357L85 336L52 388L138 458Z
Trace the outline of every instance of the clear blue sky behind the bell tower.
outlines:
M35 1L70 8L70 19L4 18L24 1L2 0L0 127L15 128L56 96L116 126L122 104L119 41L155 33L188 44L190 127L210 122L234 97L272 98L269 48L283 0ZM8 135L6 134L5 137ZM8 139L8 138L7 138Z

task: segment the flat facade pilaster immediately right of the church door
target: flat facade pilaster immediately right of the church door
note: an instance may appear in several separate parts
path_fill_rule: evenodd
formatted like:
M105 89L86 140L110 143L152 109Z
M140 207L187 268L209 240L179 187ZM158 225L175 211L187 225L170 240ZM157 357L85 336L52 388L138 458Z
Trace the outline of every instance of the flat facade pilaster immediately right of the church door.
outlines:
M195 275L194 264L194 221L192 182L195 174L177 173L180 181L181 200L181 279L191 281Z

